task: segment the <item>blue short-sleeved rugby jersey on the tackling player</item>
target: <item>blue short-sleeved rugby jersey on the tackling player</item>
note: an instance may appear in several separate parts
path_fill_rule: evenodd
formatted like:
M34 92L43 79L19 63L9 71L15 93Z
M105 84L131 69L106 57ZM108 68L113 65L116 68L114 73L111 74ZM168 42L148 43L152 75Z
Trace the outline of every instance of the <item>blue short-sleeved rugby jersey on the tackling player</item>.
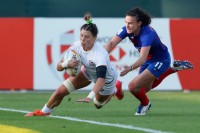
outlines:
M141 27L138 36L128 34L124 26L116 35L121 39L128 37L139 52L141 47L151 46L148 60L163 60L169 56L168 48L161 42L156 31L150 26Z

